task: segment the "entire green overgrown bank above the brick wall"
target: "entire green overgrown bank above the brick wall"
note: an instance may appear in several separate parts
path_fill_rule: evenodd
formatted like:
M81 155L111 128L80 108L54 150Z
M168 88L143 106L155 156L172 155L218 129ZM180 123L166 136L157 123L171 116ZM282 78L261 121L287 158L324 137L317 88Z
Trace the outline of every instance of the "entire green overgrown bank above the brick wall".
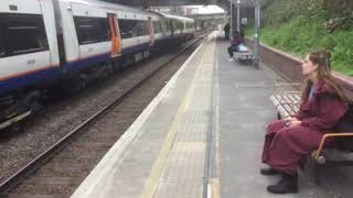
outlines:
M267 0L263 8L260 40L301 58L325 47L331 51L333 69L353 76L352 2ZM252 36L254 29L246 32Z

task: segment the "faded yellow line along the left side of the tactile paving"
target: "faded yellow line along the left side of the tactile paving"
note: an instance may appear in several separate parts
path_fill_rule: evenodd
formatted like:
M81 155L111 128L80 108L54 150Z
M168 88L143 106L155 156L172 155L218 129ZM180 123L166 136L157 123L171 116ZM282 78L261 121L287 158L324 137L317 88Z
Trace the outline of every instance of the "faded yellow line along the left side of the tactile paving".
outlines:
M188 61L184 63L185 65L188 65L191 59L194 57L194 55L196 54L196 51L188 58ZM204 53L205 54L205 53ZM204 57L204 54L202 55L202 57ZM194 78L192 79L191 86L189 87L186 95L184 96L181 106L179 107L175 118L173 120L172 125L169 129L169 132L167 134L167 138L160 148L159 155L157 161L154 162L152 169L150 172L150 175L145 184L145 187L142 189L141 193L141 197L142 198L152 198L158 189L159 186L159 178L162 174L163 170L163 166L165 164L167 157L169 155L169 152L173 145L174 142L174 138L176 135L176 127L181 121L181 118L183 116L183 112L185 112L189 108L188 103L190 103L191 101L191 96L194 92L194 87L195 87L195 76L199 75L200 70L201 70L201 65L197 65L196 72L194 74Z

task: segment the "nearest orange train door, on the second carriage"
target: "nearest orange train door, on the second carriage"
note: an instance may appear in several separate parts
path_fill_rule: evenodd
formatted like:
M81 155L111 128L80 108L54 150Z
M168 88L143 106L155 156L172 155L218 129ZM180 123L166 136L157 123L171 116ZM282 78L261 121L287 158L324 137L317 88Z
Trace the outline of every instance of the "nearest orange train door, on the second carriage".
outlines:
M108 13L110 35L111 35L111 57L117 57L121 53L121 37L117 14Z

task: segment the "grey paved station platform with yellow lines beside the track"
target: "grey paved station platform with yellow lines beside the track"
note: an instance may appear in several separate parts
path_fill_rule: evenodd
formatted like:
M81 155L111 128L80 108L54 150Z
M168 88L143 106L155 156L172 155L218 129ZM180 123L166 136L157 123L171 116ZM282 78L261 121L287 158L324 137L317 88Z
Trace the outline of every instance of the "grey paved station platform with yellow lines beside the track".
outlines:
M99 162L73 198L350 197L350 184L329 177L314 186L299 173L300 191L275 196L279 177L259 169L269 100L282 80L260 64L226 62L228 42L208 35ZM336 174L336 173L335 173Z

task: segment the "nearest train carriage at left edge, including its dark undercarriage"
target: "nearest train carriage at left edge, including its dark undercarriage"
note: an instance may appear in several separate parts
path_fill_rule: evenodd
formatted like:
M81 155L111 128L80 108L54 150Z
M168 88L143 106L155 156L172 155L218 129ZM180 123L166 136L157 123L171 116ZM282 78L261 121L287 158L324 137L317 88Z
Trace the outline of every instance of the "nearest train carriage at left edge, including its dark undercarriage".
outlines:
M0 129L29 116L39 88L61 75L54 19L52 1L0 1Z

